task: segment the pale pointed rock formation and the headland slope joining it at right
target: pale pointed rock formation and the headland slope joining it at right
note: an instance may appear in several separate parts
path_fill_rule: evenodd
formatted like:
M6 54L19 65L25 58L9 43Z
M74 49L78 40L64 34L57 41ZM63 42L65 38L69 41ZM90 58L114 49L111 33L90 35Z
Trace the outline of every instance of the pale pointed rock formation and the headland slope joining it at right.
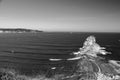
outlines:
M79 76L75 80L120 80L120 65L114 61L105 61L98 54L107 55L104 47L96 43L94 36L89 36L78 52L74 52L78 64L74 76ZM76 77L77 77L76 76Z

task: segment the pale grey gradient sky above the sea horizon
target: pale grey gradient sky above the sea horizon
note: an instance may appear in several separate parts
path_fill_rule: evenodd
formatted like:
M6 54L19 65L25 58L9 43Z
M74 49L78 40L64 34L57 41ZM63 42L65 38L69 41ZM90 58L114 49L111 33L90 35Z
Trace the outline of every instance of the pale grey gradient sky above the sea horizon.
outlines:
M120 32L120 0L0 0L0 28Z

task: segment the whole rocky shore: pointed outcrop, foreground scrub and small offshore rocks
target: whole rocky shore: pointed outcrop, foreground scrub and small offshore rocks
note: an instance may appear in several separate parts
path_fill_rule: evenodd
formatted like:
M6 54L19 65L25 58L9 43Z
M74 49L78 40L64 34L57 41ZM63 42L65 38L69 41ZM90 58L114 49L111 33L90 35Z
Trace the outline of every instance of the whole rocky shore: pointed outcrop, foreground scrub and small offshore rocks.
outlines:
M74 71L70 74L54 74L51 77L46 75L25 76L7 69L0 70L0 80L120 80L120 65L118 61L108 60L98 56L110 54L104 47L96 43L94 36L89 36L83 47L77 52L73 52L75 57L66 59L67 61L76 60ZM59 61L62 59L50 59ZM56 68L51 68L55 70Z

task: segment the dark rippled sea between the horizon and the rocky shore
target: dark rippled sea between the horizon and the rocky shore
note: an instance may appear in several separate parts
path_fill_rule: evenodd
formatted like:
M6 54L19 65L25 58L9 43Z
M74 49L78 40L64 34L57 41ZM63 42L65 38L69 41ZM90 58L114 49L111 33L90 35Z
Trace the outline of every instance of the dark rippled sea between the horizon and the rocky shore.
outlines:
M48 77L56 73L70 73L77 61L65 59L73 58L72 53L77 52L90 35L112 53L100 56L120 61L120 33L0 33L0 68L24 75L46 74ZM51 58L64 60L50 61ZM52 71L52 68L55 70Z

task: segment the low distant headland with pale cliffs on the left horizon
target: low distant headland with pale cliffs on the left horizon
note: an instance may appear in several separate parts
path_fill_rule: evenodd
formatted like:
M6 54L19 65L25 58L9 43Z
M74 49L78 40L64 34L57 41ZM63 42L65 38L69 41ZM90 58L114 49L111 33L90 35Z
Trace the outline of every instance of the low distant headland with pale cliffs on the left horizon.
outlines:
M40 30L24 29L24 28L0 28L0 33L38 33Z

